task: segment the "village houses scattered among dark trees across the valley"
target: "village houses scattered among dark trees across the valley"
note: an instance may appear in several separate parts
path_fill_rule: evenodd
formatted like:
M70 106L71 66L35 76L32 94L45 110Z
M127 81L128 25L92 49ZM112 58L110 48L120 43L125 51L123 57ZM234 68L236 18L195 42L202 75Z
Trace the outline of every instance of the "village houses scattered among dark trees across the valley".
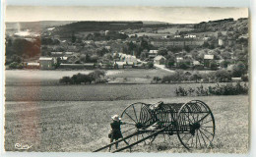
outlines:
M239 19L236 23L243 24L243 21ZM8 57L7 54L6 68L161 69L169 72L186 70L190 74L193 71L224 70L228 73L240 71L232 78L241 78L248 76L248 33L232 29L193 33L184 31L183 27L175 27L175 31L170 33L166 28L146 27L119 31L72 31L68 35L59 34L56 27L48 27L38 35L25 30L7 34L7 50L15 51L20 40L28 42L32 50L27 50L29 55ZM234 70L237 67L239 70Z

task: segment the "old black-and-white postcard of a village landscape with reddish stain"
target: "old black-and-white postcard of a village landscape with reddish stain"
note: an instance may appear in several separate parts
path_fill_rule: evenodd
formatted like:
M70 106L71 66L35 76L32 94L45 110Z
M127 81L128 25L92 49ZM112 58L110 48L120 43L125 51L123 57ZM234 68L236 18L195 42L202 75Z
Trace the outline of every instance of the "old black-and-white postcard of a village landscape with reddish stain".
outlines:
M7 6L4 148L247 153L248 8Z

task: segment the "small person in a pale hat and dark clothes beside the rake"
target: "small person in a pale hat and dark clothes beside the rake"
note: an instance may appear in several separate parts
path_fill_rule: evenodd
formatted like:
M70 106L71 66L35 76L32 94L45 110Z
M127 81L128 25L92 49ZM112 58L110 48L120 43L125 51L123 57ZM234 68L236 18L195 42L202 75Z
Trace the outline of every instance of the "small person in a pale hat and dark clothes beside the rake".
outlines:
M118 115L114 115L111 117L112 118L112 123L110 124L111 126L111 131L110 133L108 134L108 137L110 138L110 143L113 142L113 140L118 140L119 138L122 138L123 135L122 135L122 132L121 132L121 129L120 129L120 126L121 125L125 125L126 123L124 122L121 122L121 118L119 118ZM129 145L129 143L124 140L124 142ZM115 148L117 149L118 148L118 143L115 143ZM111 145L109 146L109 151L111 150ZM131 148L130 148L130 151L131 151Z

